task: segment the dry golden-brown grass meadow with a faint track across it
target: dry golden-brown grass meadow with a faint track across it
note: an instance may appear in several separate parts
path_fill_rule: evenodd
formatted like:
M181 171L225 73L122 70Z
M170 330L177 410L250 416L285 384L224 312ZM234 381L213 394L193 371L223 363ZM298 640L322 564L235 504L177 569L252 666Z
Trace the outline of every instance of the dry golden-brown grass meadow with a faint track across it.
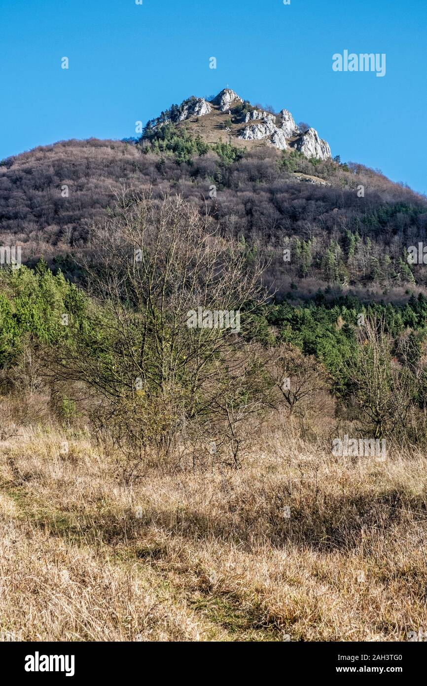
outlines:
M335 458L271 432L239 472L125 488L88 436L26 429L0 443L0 486L0 630L24 640L393 641L426 626L422 454Z

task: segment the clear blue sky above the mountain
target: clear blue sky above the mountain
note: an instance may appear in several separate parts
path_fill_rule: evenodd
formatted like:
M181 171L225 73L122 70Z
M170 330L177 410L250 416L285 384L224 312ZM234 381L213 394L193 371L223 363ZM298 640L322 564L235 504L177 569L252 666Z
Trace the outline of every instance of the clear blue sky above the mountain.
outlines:
M427 0L0 0L0 29L0 158L229 84L427 192ZM385 77L332 71L344 49L385 53Z

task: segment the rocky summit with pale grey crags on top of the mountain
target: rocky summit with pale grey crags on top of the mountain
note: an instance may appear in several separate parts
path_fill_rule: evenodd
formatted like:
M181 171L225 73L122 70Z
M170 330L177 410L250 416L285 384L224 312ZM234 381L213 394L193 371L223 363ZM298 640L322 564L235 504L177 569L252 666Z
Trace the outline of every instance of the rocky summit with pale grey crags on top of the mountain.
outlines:
M244 100L231 88L223 88L215 97L192 95L149 121L148 126L152 130L167 123L184 124L207 143L232 141L234 145L245 147L272 145L278 150L293 148L308 159L331 158L328 143L314 128L300 130L289 110L280 110L278 114L264 110Z

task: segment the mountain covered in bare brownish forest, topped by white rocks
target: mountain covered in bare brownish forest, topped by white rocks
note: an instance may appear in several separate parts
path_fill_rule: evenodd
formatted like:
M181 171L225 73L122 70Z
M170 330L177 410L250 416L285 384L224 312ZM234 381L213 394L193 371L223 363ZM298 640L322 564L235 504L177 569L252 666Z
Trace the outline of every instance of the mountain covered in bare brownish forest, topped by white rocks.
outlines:
M114 211L124 186L154 198L181 193L208 209L224 235L267 254L279 294L310 296L329 283L407 300L405 291L427 284L425 265L406 259L409 246L427 242L424 196L363 165L308 158L293 145L307 139L286 110L276 116L284 150L270 140L276 132L241 138L260 113L273 115L221 93L172 106L140 141L61 141L3 160L0 246L21 245L24 263L44 255L71 273L66 256L93 249L90 226ZM230 102L242 121L224 128Z

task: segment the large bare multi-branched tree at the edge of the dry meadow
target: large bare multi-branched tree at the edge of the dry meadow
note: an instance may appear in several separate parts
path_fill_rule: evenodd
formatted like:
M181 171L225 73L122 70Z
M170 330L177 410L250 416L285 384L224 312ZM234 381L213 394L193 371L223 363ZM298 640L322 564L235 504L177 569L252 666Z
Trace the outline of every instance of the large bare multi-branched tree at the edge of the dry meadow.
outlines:
M180 196L123 191L105 224L93 227L92 244L86 271L99 309L58 373L96 392L96 414L117 427L119 447L167 455L184 421L210 416L230 368L240 379L232 412L242 421L256 405L253 384L242 392L242 350L265 300L260 262L249 265L241 246ZM230 410L229 397L226 404Z

